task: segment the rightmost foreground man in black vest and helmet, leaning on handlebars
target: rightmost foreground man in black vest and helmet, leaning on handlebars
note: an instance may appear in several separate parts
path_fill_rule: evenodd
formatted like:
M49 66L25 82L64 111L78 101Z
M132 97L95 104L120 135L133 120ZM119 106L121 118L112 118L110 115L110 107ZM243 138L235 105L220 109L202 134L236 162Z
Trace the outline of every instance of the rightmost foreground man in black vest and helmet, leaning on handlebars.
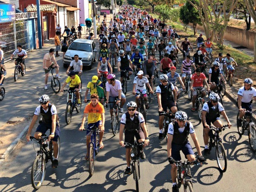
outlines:
M220 102L218 102L218 94L216 94L215 92L211 92L211 94L209 95L209 99L210 101L204 103L202 109L202 123L204 127L204 155L210 154L208 142L211 123L213 123L215 127L222 127L223 124L220 121L221 114L228 122L228 128L232 126L227 114L225 113L224 107ZM213 133L211 132L211 134Z

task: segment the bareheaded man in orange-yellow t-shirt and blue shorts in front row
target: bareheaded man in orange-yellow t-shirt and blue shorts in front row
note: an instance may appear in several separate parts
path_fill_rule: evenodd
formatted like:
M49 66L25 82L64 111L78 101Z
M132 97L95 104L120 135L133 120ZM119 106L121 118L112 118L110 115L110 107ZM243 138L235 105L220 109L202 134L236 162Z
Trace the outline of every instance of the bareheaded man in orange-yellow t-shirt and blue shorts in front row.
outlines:
M105 124L105 110L103 105L99 102L99 96L95 93L90 96L90 103L86 105L85 110L83 111L83 119L81 126L79 128L80 131L84 130L84 123L86 117L88 117L88 125L86 131L86 147L87 153L85 156L85 160L89 160L89 145L90 145L90 135L91 129L96 126L100 130L100 149L103 149L104 145L102 142L102 138L104 135L104 124Z

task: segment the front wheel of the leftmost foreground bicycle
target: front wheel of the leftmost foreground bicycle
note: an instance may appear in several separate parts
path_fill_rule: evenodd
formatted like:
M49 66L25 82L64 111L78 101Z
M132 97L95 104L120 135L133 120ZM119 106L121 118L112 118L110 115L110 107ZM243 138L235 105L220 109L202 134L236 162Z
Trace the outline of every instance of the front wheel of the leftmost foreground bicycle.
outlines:
M38 190L45 179L45 159L43 154L36 156L31 168L31 184Z

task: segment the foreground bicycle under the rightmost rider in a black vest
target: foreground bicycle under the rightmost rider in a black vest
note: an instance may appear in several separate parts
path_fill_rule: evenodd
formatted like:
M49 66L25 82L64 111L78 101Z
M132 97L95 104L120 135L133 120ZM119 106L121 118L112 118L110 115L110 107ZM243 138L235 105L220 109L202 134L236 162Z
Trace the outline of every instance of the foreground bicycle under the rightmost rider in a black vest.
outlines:
M227 161L227 154L222 144L222 139L220 138L220 135L221 135L221 131L224 131L227 127L228 125L222 126L220 128L210 126L210 131L209 131L209 138L210 138L209 151L211 151L212 147L216 147L216 151L215 151L216 160L217 160L218 167L220 168L220 171L222 173L227 171L228 161ZM203 132L203 135L204 135L204 132Z

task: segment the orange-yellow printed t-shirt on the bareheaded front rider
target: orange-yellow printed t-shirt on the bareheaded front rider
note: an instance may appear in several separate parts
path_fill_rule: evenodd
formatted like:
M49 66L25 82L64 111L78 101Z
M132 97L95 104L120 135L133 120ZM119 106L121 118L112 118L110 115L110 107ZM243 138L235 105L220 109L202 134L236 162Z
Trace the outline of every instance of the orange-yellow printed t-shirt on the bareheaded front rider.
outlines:
M96 123L100 120L102 120L101 115L102 113L105 113L103 105L98 102L95 107L92 106L92 103L90 102L88 105L86 105L84 113L88 114L88 124L89 123Z

